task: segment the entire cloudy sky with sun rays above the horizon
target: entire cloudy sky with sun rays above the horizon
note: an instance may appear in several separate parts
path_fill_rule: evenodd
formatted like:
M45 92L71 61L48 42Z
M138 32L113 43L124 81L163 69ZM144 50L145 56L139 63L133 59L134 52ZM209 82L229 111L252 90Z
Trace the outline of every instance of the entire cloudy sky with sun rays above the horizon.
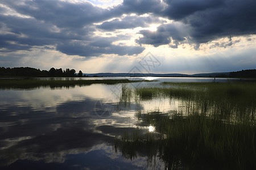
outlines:
M0 66L78 73L256 69L255 0L1 0Z

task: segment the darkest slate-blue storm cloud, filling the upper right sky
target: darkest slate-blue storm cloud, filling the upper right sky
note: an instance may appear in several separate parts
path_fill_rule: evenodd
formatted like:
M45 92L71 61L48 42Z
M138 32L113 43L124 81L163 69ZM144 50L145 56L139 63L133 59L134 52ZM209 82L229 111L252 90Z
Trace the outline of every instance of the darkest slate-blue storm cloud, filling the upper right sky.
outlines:
M141 31L143 37L137 42L140 44L152 44L159 46L169 44L173 39L175 44L201 44L221 37L242 36L256 33L256 1L252 0L183 0L165 1L167 7L158 12L158 15L167 16L186 25L184 41L180 39L180 30L163 32L161 28L155 33ZM171 23L161 27L175 27L176 23ZM178 39L177 39L177 35ZM155 36L160 36L160 38ZM167 37L166 37L167 36ZM160 40L162 39L162 41ZM160 43L159 43L160 42ZM174 46L176 48L176 46Z

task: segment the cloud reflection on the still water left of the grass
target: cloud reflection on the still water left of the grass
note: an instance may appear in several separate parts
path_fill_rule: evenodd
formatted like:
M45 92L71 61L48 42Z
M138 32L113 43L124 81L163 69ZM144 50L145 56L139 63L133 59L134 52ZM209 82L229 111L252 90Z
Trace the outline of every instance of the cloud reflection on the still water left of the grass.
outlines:
M130 110L122 108L109 118L96 115L96 101L109 99L112 87L96 84L57 90L47 87L30 91L1 90L1 165L18 166L27 161L31 165L36 162L65 164L71 161L69 155L80 154L81 158L86 158L92 151L108 155L105 149L112 148L108 143L124 130L136 127L133 104ZM117 101L116 96L112 98ZM120 165L126 164L121 152L112 150L109 157L118 158L115 162ZM133 160L133 164L127 162L131 168L143 163Z

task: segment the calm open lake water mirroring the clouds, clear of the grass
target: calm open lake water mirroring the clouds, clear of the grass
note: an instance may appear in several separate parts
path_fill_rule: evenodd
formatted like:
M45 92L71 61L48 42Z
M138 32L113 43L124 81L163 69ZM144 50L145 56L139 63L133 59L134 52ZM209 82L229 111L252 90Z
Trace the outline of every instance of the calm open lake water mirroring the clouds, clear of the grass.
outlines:
M214 80L146 79L159 82ZM216 81L226 82L227 79L216 78ZM159 82L126 86L158 86ZM92 84L73 88L0 90L1 169L164 169L159 158L148 160L146 151L138 151L137 156L130 159L120 149L114 148L113 143L126 130L154 131L154 127L149 128L137 118L138 110L142 113L175 111L182 103L152 99L139 105L130 101L129 107L119 105L117 108L121 87L122 84Z

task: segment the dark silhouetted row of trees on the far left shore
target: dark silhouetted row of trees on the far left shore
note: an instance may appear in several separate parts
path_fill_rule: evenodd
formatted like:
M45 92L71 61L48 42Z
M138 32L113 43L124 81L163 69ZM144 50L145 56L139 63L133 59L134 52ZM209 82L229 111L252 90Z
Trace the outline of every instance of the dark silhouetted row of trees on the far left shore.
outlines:
M76 74L75 69L55 69L51 68L49 71L40 70L31 67L0 67L0 76L28 76L28 77L72 77L72 76L85 76L82 74L82 71L79 70L79 73Z

